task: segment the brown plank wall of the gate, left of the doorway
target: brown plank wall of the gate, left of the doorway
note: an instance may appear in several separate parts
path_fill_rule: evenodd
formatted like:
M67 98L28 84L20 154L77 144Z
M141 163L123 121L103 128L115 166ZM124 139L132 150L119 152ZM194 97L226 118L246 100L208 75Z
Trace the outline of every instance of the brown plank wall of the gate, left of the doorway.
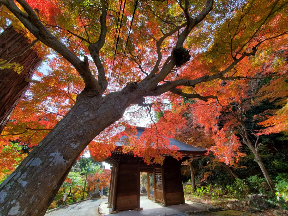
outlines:
M140 164L120 164L116 210L140 208Z

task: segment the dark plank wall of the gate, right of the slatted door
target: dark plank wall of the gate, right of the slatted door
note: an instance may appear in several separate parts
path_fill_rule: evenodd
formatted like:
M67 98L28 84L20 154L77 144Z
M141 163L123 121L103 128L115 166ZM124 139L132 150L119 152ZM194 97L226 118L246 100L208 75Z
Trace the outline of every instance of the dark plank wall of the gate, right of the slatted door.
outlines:
M180 164L176 159L166 157L163 165L167 205L184 204L184 192Z

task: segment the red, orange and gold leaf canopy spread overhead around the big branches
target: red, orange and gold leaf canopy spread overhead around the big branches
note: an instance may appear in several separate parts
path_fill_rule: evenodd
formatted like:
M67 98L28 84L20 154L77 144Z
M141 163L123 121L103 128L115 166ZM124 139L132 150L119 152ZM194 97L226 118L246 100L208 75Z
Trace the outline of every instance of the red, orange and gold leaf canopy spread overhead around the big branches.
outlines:
M29 0L27 3L50 32L56 38L62 38L61 40L75 55L79 57L87 55L89 52L87 45L98 38L98 26L94 23L99 22L100 2ZM101 51L101 58L105 59L103 67L107 71L108 82L108 88L103 94L117 91L129 82L139 82L145 79L146 71L155 71L156 68L151 67L155 63L161 67L166 64L165 61L160 64L158 62L159 54L155 40L162 38L163 32L169 32L175 28L176 23L183 22L183 8L181 8L183 5L177 1L167 1L158 6L168 5L168 7L158 10L154 9L156 4L158 3L140 1L133 16L133 23L131 23L134 9L132 2L126 3L125 9L123 4L109 2L106 19L106 25L109 27L106 43ZM229 104L241 103L241 100L247 97L253 82L252 77L261 78L271 74L275 77L284 75L287 71L287 65L281 58L273 56L274 52L285 46L287 33L285 22L287 20L283 13L285 13L286 4L284 1L265 3L227 1L226 4L214 4L214 10L206 16L204 22L198 24L183 44L183 47L190 50L191 60L181 68L173 69L160 84L188 80L191 77L197 79L206 75L215 76L221 73L218 79L202 82L196 86L182 83L161 96L146 97L146 102L144 101L143 104L146 109L142 107L138 112L135 112L136 106L130 106L130 113L126 115L126 118L106 128L90 143L89 150L93 155L97 155L100 159L109 156L114 148L113 143L122 135L128 135L129 142L134 145L126 147L126 151L133 151L135 155L143 157L148 163L161 163L163 158L155 157L160 154L172 154L175 158L179 158L181 155L175 151L177 149L169 145L168 138L174 137L177 129L185 127L183 109L189 109L193 113L194 122L203 126L206 131L213 131L211 138L214 139L215 145L210 150L215 156L223 158L222 161L227 164L234 158L243 156L238 150L241 146L239 138L228 132L226 126L219 128L217 118L221 115L223 108L229 109ZM201 4L197 5L199 6L194 5L193 8L195 12ZM147 10L148 14L145 13ZM13 21L12 24L21 25L7 8L3 11ZM118 13L120 13L120 19L121 14L124 13L122 23L118 19ZM193 16L192 9L190 13ZM130 24L132 24L131 30ZM176 33L167 38L165 35L163 38L161 57L166 62L171 54L169 47L176 43L182 31L181 28L184 26L182 24L177 28L179 30L175 31ZM22 29L27 31L23 26ZM205 38L200 37L201 34L204 34ZM128 35L129 38L127 38ZM27 37L33 37L33 35L30 34ZM126 39L127 43L124 42ZM253 54L245 57L249 52ZM41 84L31 86L29 94L26 94L16 107L11 116L12 121L7 124L2 133L0 137L2 149L3 146L11 145L8 143L12 140L18 140L20 145L33 148L73 107L77 95L84 90L85 85L81 77L67 59L59 54L52 54L47 60L50 69L45 74L40 72L41 69L35 73L35 77L41 80ZM97 75L97 68L93 66L92 59L88 61L92 74ZM239 63L234 65L235 61ZM277 71L276 74L275 71ZM180 108L178 105L183 104L185 97L195 98L194 103ZM172 106L163 103L167 98ZM135 121L143 115L151 115L149 114L151 111L163 110L164 115L156 124L152 122L140 139L135 139L134 130L121 133L124 128L135 124ZM260 133L267 134L283 130L287 124L286 113L286 108L283 107L281 111L259 123L271 126ZM152 115L149 117L153 118L154 114ZM284 120L281 120L282 118ZM230 158L221 157L221 155ZM154 161L150 161L151 158L154 158Z

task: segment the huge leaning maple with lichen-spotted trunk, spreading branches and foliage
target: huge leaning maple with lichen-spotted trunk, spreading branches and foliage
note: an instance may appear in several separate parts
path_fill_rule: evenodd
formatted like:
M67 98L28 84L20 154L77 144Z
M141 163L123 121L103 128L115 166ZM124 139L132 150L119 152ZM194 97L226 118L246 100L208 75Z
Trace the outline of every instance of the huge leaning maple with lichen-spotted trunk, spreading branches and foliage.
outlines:
M31 2L16 2L0 0L29 32L62 56L56 54L57 65L77 71L85 87L73 107L61 114L64 116L57 124L54 121L53 129L49 128L52 130L1 184L3 215L44 215L75 160L91 141L98 145L94 148L109 154L111 145L103 145L107 134L119 134L113 126L127 125L121 118L134 105L159 111L158 102L165 98L175 103L181 101L179 96L195 98L196 105L210 108L194 116L214 126L216 120L207 110L215 108L209 106L217 98L215 94L225 101L234 88L234 97L239 99L238 84L256 75L245 67L248 57L259 58L262 47L266 49L270 41L281 40L287 33L285 1L136 1L124 8L117 1L63 0L58 1L61 13L54 17L55 22L43 20L41 10ZM61 58L71 65L62 63ZM229 84L221 86L222 81ZM49 122L41 120L39 126ZM164 117L159 125L175 126L177 121L181 122ZM164 139L172 133L162 129L161 137L157 132L161 126L153 125L154 129L146 129L139 138L147 141L145 148L149 151L141 150L143 143L136 140L134 149L127 150L148 163L165 153L181 157ZM152 162L161 163L161 159L158 156ZM35 181L40 183L37 191L41 193L35 193Z

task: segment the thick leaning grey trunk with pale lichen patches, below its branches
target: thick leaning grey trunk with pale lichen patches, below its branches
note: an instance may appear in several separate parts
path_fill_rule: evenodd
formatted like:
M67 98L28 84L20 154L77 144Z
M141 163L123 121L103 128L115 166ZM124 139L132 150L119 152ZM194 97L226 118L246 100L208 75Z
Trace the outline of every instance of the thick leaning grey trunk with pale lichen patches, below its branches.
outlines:
M0 185L0 215L44 215L79 154L141 92L135 83L107 96L81 92L73 108Z

